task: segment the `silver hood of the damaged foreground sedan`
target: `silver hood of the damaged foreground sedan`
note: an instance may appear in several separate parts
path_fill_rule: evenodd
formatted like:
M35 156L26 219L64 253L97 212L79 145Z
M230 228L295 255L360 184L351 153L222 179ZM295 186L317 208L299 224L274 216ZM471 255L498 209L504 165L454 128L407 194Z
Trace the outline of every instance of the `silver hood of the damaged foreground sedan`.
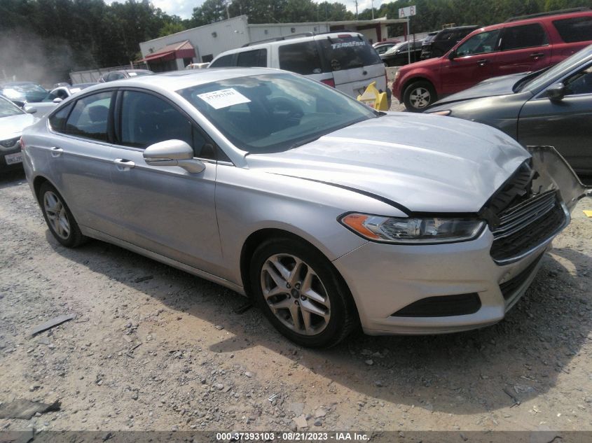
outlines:
M486 125L387 113L283 153L248 155L247 162L378 195L412 212L476 213L529 156Z

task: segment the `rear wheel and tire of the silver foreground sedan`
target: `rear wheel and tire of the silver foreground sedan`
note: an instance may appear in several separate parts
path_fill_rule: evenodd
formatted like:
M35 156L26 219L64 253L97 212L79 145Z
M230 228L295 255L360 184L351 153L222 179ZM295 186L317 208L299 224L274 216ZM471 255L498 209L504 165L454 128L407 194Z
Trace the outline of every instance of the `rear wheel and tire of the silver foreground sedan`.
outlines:
M39 204L50 232L60 244L67 248L76 248L88 240L88 237L82 234L60 192L47 181L39 188Z

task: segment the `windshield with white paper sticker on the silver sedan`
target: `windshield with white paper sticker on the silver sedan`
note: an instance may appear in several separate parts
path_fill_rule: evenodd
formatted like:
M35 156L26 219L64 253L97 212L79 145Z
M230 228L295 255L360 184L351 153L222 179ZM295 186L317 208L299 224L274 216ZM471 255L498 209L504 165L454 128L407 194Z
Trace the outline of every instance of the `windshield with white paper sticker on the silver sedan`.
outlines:
M238 148L301 146L378 113L331 87L292 74L219 80L177 91Z

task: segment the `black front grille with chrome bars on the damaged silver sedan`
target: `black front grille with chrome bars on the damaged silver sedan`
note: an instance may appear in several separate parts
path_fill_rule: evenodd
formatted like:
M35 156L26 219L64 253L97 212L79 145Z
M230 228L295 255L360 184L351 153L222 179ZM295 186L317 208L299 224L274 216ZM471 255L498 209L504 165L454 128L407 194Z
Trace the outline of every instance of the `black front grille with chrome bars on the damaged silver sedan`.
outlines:
M565 224L565 212L555 190L535 195L498 214L490 255L510 262L553 237Z

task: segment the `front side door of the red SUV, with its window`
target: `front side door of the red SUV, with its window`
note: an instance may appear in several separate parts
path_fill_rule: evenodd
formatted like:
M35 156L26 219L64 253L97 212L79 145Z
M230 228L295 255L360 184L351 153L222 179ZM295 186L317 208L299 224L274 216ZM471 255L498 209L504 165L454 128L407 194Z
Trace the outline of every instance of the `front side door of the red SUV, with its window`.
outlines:
M450 58L444 57L438 94L454 94L493 77L499 39L500 29L483 31L460 43Z

